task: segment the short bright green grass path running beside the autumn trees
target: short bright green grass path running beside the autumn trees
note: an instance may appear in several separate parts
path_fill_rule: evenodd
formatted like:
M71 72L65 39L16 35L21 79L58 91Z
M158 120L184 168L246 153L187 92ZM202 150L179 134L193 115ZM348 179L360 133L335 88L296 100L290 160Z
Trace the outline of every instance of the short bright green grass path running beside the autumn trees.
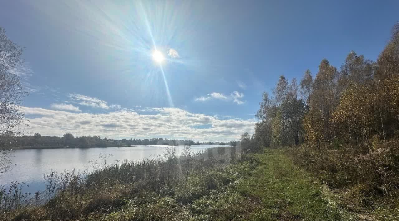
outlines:
M322 199L322 185L279 150L256 157L260 165L236 186L240 194L260 201L249 220L342 220Z

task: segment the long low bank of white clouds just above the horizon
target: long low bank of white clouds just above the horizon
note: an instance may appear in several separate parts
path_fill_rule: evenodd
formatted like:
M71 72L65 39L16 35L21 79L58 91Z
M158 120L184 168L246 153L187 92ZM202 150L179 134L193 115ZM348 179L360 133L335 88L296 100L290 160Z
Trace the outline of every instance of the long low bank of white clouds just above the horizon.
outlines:
M199 141L230 141L239 139L244 132L253 133L255 123L252 119L217 119L215 116L191 113L180 108L152 108L152 110L154 111L145 114L124 109L92 114L23 108L26 118L30 120L27 131L57 136L73 133L114 139L162 136ZM199 128L201 125L208 126Z

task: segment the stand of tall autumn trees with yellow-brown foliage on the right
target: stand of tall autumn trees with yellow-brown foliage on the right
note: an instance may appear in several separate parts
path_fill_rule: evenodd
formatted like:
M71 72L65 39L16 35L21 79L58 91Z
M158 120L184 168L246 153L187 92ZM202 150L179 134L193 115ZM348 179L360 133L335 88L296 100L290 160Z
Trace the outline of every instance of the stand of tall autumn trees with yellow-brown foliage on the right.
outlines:
M316 149L340 140L368 147L370 138L399 131L399 23L377 61L350 51L338 70L322 59L316 76L300 84L281 75L273 97L264 94L255 133L265 146L307 142ZM367 148L366 148L367 149Z

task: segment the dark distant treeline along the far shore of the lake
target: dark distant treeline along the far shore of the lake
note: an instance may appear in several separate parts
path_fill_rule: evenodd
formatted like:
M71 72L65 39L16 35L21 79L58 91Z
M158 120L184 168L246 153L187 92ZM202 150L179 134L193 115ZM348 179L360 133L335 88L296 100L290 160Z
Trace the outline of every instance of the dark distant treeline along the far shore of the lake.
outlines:
M81 136L75 137L71 133L66 133L62 137L57 136L41 136L40 133L36 133L34 136L20 136L11 137L6 139L6 136L2 136L0 139L1 148L57 148L57 147L129 147L134 145L233 145L235 146L237 141L230 142L194 142L192 140L178 140L178 139L167 139L167 138L151 138L151 139L107 139L107 137L101 138L100 136Z

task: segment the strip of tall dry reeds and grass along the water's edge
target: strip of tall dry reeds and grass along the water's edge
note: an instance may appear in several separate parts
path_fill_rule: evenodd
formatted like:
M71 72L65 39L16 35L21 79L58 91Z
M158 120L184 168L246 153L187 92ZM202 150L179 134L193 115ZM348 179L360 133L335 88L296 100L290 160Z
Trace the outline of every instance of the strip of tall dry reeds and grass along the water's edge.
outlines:
M240 162L240 147L214 147L192 153L173 148L140 161L107 164L91 161L92 170L45 174L45 190L23 194L23 185L0 187L0 214L6 220L100 219L129 203L148 206L171 197L185 205L235 180L225 165Z

